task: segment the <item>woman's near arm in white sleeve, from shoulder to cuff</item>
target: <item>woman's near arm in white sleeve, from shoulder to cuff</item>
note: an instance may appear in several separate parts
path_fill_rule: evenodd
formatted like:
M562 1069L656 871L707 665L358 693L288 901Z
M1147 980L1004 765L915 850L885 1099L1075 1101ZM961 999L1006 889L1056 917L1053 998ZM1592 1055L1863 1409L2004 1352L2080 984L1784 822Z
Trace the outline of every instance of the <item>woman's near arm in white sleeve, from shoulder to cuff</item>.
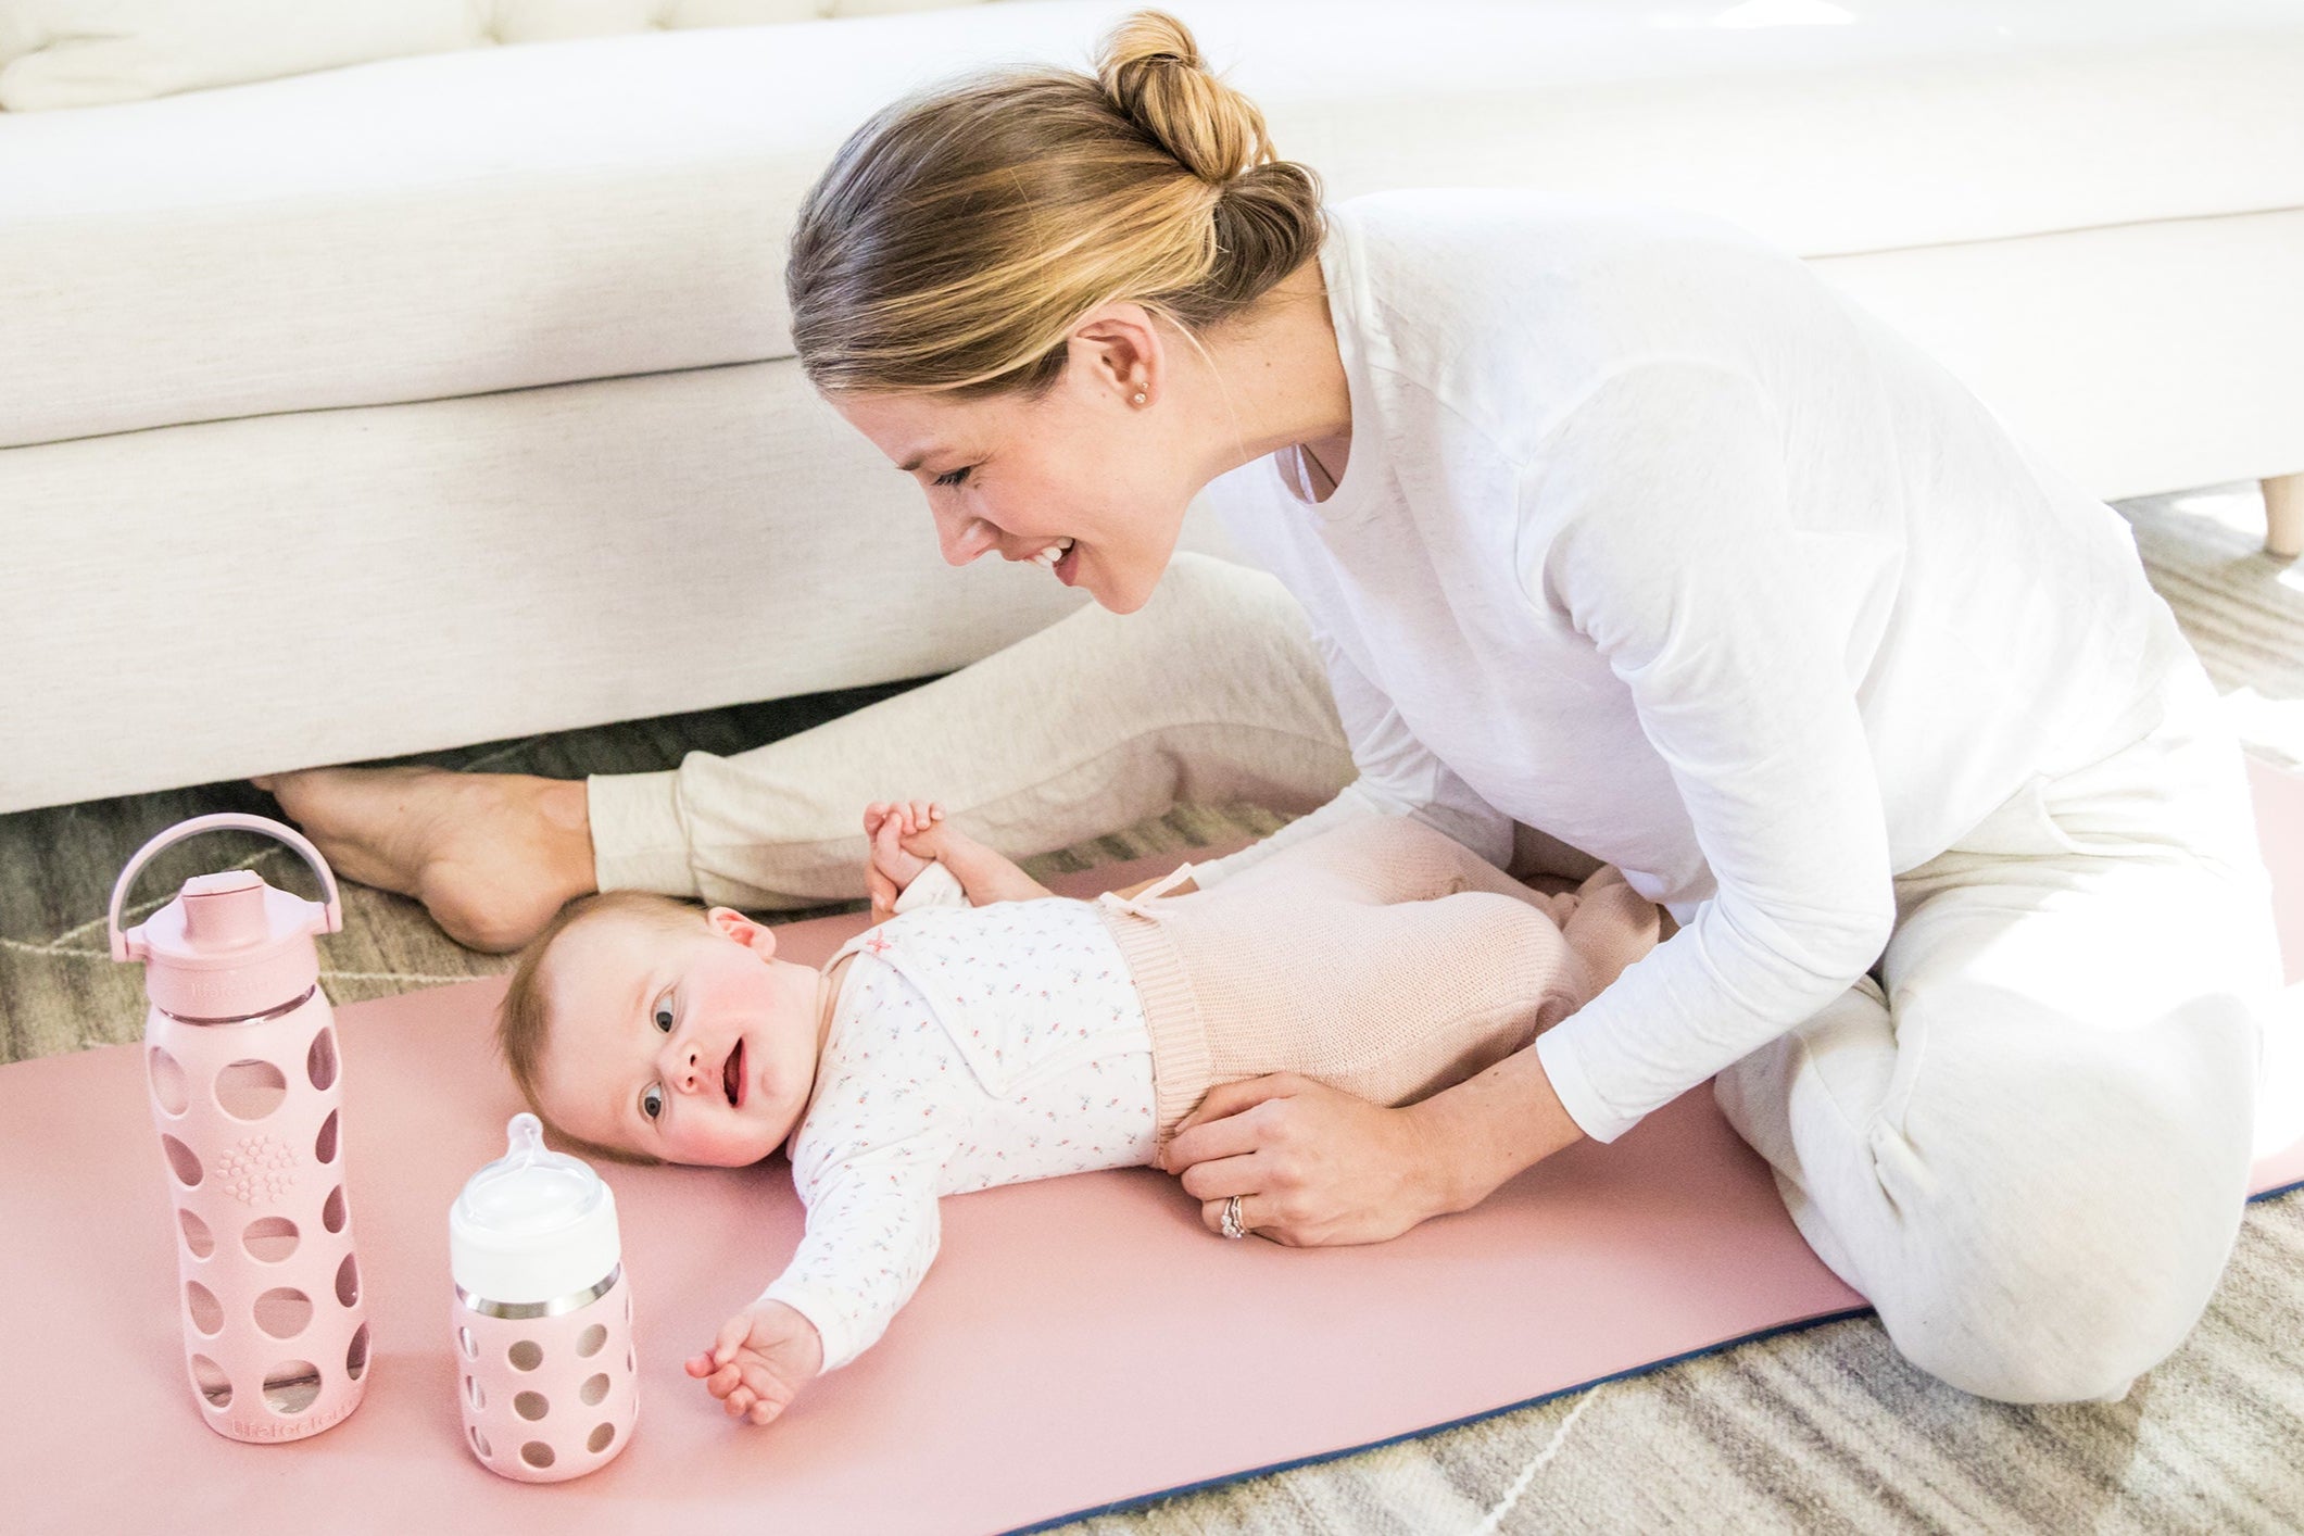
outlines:
M1852 576L1875 567L1857 534L1795 520L1793 440L1751 375L1661 359L1613 375L1523 477L1521 587L1624 684L1714 887L1534 1045L1594 1140L1811 1018L1896 921L1850 638L1894 587Z

